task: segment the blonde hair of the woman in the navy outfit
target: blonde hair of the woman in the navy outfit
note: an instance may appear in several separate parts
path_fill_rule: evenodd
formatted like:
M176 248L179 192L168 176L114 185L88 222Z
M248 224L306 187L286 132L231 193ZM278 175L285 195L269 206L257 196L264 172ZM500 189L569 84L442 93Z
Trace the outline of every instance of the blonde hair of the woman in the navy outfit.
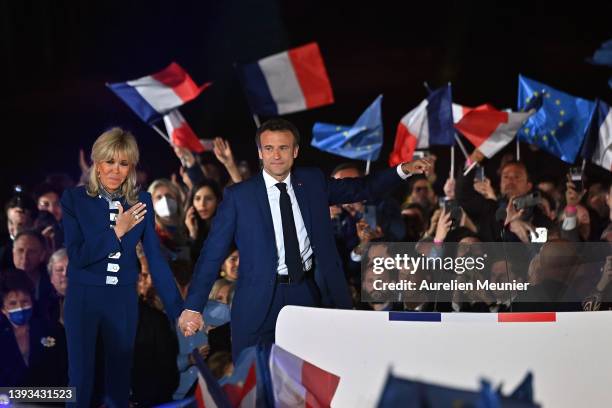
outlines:
M125 154L130 164L128 175L119 189L128 204L134 205L138 202L138 186L136 185L136 165L140 156L138 144L132 133L118 127L102 133L94 142L91 149L93 165L89 169L86 185L87 194L91 197L100 194L100 179L97 174L98 163L115 158L119 153Z

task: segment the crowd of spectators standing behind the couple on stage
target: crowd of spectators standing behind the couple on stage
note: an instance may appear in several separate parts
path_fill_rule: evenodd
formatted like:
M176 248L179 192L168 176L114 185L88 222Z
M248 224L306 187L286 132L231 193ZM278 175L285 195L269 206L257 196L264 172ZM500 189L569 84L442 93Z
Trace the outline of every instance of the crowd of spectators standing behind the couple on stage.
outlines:
M141 190L151 194L155 233L181 296L187 297L193 271L211 223L223 201L224 188L255 173L238 163L227 140L214 140L218 163L202 164L188 149L175 147L181 161L179 176L148 180L138 173ZM145 158L146 160L146 158ZM435 163L435 157L431 156ZM0 248L0 385L60 386L68 382L64 297L70 281L66 270L60 199L64 190L87 180L90 163L81 158L83 176L53 176L4 203L6 236ZM363 177L363 166L343 163L329 176ZM490 169L489 169L490 170ZM447 177L441 183L436 178ZM443 185L436 191L435 185ZM535 194L534 194L535 193ZM527 198L527 199L526 199ZM518 204L521 203L521 204ZM240 206L249 202L236 203ZM595 259L596 265L582 288L581 300L563 302L584 265L578 243L612 242L612 185L597 181L577 186L571 179L538 179L529 163L502 160L496 172L472 171L453 177L412 175L397 191L372 202L329 207L337 251L351 289L353 307L360 310L470 311L603 310L612 309L612 256ZM462 299L455 293L446 302L430 297L362 301L371 265L369 260L388 253L386 244L410 242L415 253L440 256L444 243L508 242L530 244L536 232L546 231L539 253L522 263L500 259L483 274L492 280L530 282L540 302L514 302L495 296ZM557 245L551 245L557 244ZM561 248L561 249L560 249ZM457 247L456 251L462 251ZM559 252L562 251L562 252ZM608 251L612 255L612 250ZM134 406L152 406L182 399L194 392L197 367L194 350L206 360L217 378L233 370L229 325L240 252L231 246L218 271L202 314L204 330L185 336L172 324L151 279L149 261L137 247L140 263L137 291L138 327L131 373ZM561 256L563 255L563 256ZM558 259L563 259L560 264ZM363 274L362 274L362 265ZM592 266L592 265L591 265ZM591 276L591 275L589 275ZM510 279L510 277L512 279ZM421 277L423 279L423 277ZM520 305L520 306L519 306ZM95 398L103 403L104 359L102 342L96 349Z

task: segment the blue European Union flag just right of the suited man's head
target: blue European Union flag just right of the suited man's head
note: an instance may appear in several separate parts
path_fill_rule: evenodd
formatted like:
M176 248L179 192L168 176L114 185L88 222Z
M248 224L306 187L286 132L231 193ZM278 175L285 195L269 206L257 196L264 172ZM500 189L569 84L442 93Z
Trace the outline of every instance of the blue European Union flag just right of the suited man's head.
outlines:
M349 159L378 159L383 141L381 102L382 95L379 95L353 126L315 123L310 144Z

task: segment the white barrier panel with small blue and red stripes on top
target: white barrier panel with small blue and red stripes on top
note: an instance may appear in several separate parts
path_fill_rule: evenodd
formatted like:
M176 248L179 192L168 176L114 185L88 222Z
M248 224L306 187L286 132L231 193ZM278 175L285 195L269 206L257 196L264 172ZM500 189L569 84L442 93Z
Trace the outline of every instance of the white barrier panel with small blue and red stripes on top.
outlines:
M486 378L494 387L503 382L505 393L532 371L543 407L612 406L612 311L498 321L510 315L390 321L388 312L287 306L276 343L340 376L334 407L375 406L390 368L400 377L474 391Z

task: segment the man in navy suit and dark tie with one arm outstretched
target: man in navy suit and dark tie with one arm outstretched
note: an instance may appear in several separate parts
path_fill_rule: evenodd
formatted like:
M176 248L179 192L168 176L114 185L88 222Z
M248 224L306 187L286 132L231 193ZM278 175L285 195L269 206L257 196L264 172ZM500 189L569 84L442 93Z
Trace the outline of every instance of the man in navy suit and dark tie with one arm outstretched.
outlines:
M351 308L329 206L376 199L431 166L417 160L376 175L337 180L314 168L292 170L299 133L280 118L265 122L256 142L263 171L226 189L179 319L185 335L203 327L201 311L235 242L240 278L231 316L234 358L248 346L274 341L276 318L285 305Z

